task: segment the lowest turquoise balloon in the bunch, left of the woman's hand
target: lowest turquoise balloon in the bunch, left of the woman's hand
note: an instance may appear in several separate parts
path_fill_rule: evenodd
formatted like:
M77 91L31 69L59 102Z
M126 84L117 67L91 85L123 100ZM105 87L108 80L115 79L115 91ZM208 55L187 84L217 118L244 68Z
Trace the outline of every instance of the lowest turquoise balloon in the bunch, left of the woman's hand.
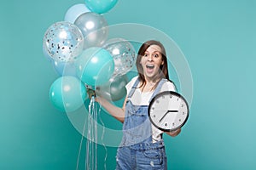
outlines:
M49 99L60 111L76 111L84 104L86 89L76 77L59 77L49 88Z

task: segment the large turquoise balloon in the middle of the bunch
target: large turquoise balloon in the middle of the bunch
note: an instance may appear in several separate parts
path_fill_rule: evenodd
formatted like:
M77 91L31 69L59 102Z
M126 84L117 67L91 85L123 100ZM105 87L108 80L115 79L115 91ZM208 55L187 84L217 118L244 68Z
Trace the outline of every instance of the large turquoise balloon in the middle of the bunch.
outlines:
M113 57L104 48L87 48L76 61L78 77L93 87L108 82L113 67Z

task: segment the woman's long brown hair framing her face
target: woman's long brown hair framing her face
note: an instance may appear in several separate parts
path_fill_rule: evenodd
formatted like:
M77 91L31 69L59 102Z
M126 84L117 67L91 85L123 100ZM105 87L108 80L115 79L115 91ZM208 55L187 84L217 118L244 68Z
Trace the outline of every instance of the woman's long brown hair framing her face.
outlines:
M137 66L137 71L138 71L138 77L139 80L142 82L141 87L143 87L146 84L146 79L144 77L144 72L143 72L143 66L140 64L141 59L143 57L143 55L145 54L145 51L151 46L151 45L157 45L161 48L161 55L162 55L162 60L164 61L163 65L160 65L160 69L159 69L159 74L157 74L153 81L158 81L155 83L154 88L157 87L158 83L160 82L160 80L162 78L166 78L167 80L169 80L170 82L172 82L169 79L169 73L168 73L168 65L167 65L167 57L166 57L166 49L163 46L163 44L161 42L155 41L155 40L148 40L147 42L144 42L143 45L141 46L141 48L139 48L138 53L137 53L137 60L136 60L136 66Z

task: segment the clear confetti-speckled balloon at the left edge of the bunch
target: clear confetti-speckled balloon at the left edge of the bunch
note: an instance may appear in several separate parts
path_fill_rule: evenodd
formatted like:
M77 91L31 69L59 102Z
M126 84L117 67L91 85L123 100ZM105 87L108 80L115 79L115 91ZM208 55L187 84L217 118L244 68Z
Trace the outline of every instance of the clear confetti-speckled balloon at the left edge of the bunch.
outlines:
M79 28L69 22L56 22L44 33L43 47L56 61L71 61L83 51L84 37Z

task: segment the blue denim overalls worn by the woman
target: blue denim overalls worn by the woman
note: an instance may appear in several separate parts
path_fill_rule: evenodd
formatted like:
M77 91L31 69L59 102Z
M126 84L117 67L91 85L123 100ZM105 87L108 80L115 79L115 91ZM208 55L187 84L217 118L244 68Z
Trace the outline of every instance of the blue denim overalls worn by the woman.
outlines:
M160 92L162 79L154 90L150 101ZM134 83L125 105L123 139L117 152L116 169L167 169L166 151L163 140L152 142L152 127L148 118L148 105L133 105L131 97L137 89L139 80Z

